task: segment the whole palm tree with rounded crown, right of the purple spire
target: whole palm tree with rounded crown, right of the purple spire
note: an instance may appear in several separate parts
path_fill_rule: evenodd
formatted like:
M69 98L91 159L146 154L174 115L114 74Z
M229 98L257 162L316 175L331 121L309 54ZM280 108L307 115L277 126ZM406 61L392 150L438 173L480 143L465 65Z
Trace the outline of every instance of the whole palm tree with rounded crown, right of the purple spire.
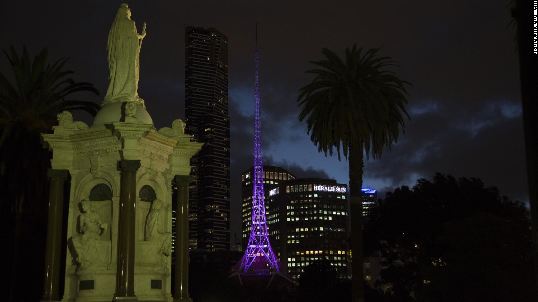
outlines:
M395 73L390 57L378 57L380 48L363 53L353 45L345 49L345 61L329 49L325 59L310 62L320 67L306 71L316 77L299 90L299 120L306 118L310 140L318 151L332 155L336 148L349 160L351 208L351 263L353 302L364 301L362 243L362 185L364 155L379 158L383 149L391 149L405 128L407 91Z

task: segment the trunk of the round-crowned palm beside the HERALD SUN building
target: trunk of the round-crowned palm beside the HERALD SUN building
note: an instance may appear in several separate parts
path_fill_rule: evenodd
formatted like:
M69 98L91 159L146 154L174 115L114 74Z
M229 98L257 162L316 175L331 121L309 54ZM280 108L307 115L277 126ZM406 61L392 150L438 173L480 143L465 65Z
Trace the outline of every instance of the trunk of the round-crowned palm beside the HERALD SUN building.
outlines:
M351 297L364 302L363 202L364 153L361 143L349 147L349 195L351 211Z

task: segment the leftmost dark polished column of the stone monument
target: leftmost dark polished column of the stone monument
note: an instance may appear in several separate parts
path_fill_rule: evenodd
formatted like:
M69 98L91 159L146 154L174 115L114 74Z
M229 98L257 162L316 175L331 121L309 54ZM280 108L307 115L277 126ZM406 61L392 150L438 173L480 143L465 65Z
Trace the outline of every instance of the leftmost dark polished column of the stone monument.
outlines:
M60 255L62 238L63 182L67 179L67 170L48 170L51 180L51 193L48 199L47 249L45 252L45 270L43 296L41 301L60 300Z

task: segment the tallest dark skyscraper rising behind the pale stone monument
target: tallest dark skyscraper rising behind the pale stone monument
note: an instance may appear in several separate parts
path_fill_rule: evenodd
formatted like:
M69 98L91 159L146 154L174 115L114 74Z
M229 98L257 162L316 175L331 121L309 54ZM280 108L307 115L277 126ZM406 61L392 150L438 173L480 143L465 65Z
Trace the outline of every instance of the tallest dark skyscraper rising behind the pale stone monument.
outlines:
M228 37L215 28L185 28L185 121L192 142L189 247L230 250Z

